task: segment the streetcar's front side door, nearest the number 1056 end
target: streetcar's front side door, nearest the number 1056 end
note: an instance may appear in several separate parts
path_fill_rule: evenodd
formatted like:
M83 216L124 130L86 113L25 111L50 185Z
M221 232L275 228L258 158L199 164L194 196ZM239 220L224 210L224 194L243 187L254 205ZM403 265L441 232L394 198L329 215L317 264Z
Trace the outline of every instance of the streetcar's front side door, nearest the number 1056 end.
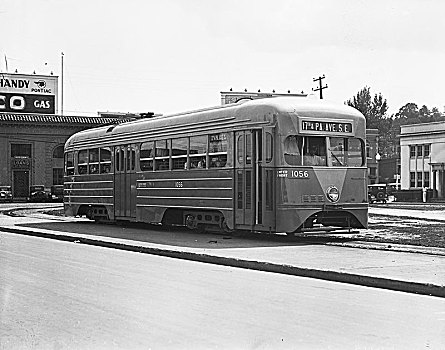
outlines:
M261 130L235 132L235 225L253 229L261 224ZM243 227L245 226L245 227ZM246 227L248 226L248 227Z

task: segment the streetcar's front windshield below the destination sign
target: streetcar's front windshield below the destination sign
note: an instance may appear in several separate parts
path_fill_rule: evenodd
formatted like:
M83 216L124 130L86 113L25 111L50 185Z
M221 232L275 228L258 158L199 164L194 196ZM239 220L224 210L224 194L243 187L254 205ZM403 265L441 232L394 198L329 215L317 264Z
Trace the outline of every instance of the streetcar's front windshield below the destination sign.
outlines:
M289 135L284 140L289 165L360 167L362 142L357 138Z

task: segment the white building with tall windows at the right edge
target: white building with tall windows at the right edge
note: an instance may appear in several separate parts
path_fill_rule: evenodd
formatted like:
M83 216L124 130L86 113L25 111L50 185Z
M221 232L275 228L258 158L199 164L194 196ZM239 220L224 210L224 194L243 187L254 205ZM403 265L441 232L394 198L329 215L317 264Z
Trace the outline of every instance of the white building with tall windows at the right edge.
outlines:
M445 197L445 122L401 126L401 187L433 189Z

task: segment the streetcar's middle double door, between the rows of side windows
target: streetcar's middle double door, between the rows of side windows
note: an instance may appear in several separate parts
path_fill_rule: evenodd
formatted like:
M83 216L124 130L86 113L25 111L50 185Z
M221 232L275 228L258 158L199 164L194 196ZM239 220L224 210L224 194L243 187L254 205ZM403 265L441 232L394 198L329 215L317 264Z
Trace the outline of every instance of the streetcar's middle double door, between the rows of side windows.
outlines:
M114 215L136 217L136 147L117 146L114 160Z

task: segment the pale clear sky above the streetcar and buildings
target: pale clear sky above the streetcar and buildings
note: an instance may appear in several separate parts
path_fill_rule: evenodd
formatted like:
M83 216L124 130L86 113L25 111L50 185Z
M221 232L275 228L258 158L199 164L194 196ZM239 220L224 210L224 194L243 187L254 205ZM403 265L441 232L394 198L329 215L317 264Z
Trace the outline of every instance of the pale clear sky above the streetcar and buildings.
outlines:
M444 10L443 0L0 0L0 72L60 83L63 53L66 115L176 113L219 105L230 88L312 93L322 75L330 101L368 86L389 115L411 102L443 112Z

